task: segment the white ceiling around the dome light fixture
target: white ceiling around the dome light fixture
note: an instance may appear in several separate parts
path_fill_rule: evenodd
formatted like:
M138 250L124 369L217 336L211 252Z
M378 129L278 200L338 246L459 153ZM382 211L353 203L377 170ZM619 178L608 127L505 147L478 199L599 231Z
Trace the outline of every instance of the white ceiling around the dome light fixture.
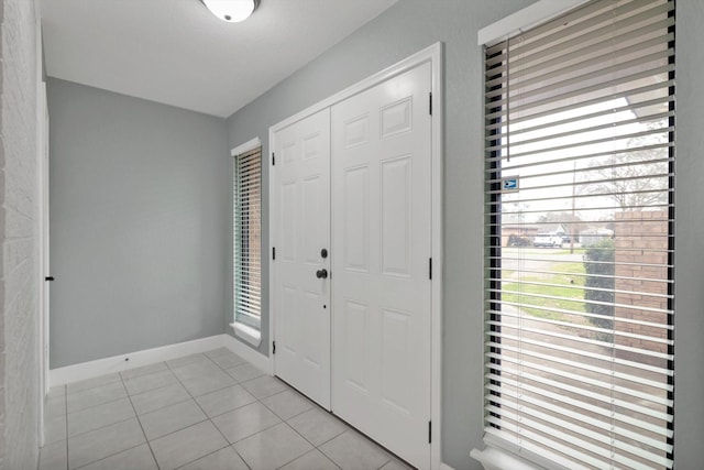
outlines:
M42 0L47 75L229 117L397 0L262 0L241 23L199 0Z

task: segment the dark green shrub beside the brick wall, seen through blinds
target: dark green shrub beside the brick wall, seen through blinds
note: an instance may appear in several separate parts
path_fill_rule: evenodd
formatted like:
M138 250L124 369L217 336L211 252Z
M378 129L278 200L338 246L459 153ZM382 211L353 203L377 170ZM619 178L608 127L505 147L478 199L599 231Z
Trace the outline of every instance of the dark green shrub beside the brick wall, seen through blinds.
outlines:
M586 280L584 282L584 299L604 302L610 305L585 303L585 309L590 314L600 315L604 318L590 318L590 321L601 328L613 328L614 318L614 241L603 239L587 247L584 252L584 271ZM608 277L602 277L608 276ZM592 291L596 287L605 291Z

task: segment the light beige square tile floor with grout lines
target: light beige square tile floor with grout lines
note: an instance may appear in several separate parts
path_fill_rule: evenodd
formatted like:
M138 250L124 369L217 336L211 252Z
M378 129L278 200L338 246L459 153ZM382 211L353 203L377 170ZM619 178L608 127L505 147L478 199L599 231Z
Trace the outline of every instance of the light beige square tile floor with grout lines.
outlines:
M397 470L382 447L226 348L57 386L40 470Z

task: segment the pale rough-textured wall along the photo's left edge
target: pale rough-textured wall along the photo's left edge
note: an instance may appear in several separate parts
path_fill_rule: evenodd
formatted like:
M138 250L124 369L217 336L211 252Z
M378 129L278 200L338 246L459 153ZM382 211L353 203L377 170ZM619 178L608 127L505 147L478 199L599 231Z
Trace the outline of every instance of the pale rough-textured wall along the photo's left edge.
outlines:
M32 0L0 0L0 469L38 456L36 40Z

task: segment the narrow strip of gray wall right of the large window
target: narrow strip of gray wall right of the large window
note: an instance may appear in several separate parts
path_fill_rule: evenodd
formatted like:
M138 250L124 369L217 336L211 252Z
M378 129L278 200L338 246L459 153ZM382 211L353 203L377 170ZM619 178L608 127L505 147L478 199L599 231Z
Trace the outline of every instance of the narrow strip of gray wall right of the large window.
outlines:
M704 442L704 2L676 6L674 456L686 470Z

